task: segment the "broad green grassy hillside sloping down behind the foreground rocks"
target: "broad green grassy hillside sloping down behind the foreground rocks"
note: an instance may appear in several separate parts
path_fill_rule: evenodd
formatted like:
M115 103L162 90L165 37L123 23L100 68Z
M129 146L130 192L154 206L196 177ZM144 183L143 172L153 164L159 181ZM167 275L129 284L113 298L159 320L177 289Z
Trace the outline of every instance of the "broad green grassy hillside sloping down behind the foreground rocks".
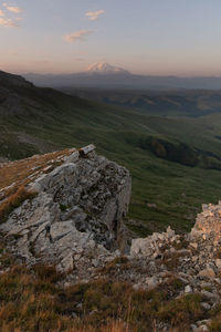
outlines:
M221 196L219 113L152 116L12 81L1 83L0 101L2 157L93 142L98 153L126 166L133 176L127 217L133 231L147 235L168 224L183 231L201 203Z

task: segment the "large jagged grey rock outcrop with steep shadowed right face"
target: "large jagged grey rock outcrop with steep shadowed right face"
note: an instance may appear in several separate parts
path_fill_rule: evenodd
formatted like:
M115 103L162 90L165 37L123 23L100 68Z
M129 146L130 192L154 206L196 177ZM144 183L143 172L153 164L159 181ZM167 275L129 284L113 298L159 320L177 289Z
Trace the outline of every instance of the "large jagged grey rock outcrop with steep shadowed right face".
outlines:
M77 269L83 257L80 277L81 269L98 264L99 258L119 255L115 250L124 232L130 177L127 169L94 149L90 145L73 151L57 160L60 166L50 173L44 168L29 184L29 190L38 195L0 226L17 257L29 264L53 263L62 271Z

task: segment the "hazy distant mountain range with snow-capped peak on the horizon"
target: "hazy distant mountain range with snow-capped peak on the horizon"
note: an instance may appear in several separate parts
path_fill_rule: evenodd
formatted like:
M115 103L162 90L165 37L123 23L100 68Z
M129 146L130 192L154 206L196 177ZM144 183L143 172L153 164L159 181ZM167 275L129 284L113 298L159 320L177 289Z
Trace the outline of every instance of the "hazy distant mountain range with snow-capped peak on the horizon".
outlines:
M102 87L102 89L207 89L221 90L221 77L218 76L154 76L136 75L113 66L106 62L92 64L86 72L74 74L23 74L25 79L39 86L52 87Z

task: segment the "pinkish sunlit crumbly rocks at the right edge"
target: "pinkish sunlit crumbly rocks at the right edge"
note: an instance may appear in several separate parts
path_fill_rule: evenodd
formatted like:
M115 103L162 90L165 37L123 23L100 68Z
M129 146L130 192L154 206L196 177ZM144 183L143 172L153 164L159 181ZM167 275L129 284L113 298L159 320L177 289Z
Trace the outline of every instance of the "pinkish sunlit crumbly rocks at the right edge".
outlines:
M160 289L173 278L179 291L173 289L171 297L200 297L207 317L207 312L221 303L221 203L202 205L190 234L176 235L168 227L166 232L134 239L129 260L130 282L136 289ZM189 328L209 331L209 326L210 320L203 320Z

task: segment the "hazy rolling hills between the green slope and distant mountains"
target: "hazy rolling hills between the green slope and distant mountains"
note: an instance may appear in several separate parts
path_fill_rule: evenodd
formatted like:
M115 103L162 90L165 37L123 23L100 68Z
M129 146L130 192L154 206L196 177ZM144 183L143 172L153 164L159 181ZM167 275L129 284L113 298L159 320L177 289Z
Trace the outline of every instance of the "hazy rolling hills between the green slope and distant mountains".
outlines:
M65 93L83 98L144 111L145 114L159 116L199 117L219 113L221 110L221 92L210 90L104 90L61 87Z

